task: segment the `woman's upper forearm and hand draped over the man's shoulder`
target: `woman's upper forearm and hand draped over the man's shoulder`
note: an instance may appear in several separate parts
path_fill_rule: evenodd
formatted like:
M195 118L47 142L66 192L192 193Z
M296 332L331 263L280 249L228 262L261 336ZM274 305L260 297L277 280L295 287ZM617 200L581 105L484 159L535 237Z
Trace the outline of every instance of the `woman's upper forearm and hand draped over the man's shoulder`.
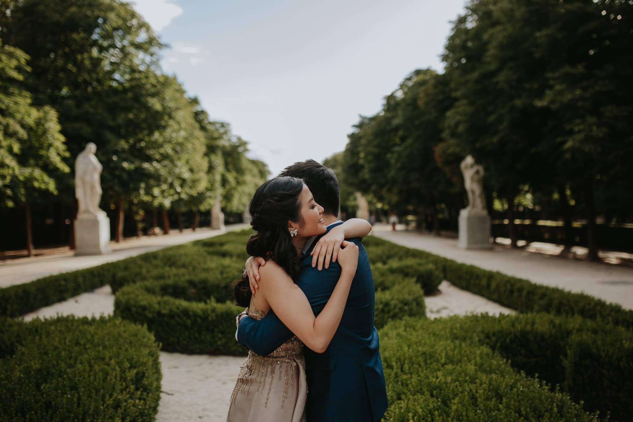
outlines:
M318 242L310 255L312 256L312 268L318 264L318 270L321 271L323 264L325 268L330 265L330 258L333 263L339 254L339 246L343 240L352 239L354 237L365 237L372 231L372 225L369 221L362 218L350 218L337 227L333 227Z

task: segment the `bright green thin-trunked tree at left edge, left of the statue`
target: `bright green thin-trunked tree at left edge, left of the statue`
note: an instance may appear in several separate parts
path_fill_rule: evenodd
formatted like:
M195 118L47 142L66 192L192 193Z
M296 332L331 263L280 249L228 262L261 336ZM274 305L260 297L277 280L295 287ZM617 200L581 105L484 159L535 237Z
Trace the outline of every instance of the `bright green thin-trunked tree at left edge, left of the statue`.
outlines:
M57 194L56 177L70 168L65 139L57 113L32 106L31 96L20 85L28 56L0 40L0 204L20 204L26 212L27 251L32 255L31 204L35 192Z

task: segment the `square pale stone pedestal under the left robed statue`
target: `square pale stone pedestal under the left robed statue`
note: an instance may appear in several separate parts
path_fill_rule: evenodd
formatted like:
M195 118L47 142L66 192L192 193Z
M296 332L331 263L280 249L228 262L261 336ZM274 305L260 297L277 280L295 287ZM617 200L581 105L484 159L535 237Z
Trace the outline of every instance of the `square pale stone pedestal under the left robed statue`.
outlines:
M75 246L75 255L103 255L111 252L110 218L104 211L77 214Z

